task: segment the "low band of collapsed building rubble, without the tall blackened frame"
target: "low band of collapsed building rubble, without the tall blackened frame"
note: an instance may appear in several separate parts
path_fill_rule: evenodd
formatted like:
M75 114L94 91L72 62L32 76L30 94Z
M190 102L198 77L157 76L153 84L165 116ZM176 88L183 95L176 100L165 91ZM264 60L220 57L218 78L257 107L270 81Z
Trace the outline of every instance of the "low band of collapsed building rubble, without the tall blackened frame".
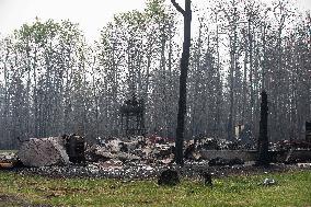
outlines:
M279 141L269 143L272 162L295 163L311 160L307 142ZM238 146L238 147L237 147ZM304 148L299 148L304 147ZM308 147L308 146L307 146ZM18 152L24 165L68 165L103 163L102 166L120 163L169 165L174 162L174 143L163 142L160 137L136 136L130 139L111 138L101 145L87 145L83 137L70 135L50 138L32 138ZM209 166L243 165L257 160L256 150L221 139L200 138L185 141L186 163L206 163Z

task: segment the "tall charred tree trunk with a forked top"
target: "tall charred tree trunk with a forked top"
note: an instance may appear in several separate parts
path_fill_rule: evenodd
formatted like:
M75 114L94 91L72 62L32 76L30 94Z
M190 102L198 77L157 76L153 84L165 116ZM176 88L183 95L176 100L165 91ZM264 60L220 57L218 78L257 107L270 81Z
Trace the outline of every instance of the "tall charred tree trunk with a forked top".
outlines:
M184 165L183 145L184 145L184 129L185 129L185 114L186 114L186 97L187 97L187 72L189 64L191 50L191 24L192 10L191 0L185 0L185 10L183 10L175 0L171 0L178 12L184 15L184 44L181 59L181 76L180 76L180 100L177 114L177 128L175 138L175 161L178 165Z

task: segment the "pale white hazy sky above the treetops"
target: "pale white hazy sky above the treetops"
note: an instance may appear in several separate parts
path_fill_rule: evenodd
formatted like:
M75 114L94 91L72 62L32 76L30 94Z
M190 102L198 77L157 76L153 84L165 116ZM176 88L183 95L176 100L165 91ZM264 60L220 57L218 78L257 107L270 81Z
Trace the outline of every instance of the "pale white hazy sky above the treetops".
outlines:
M204 1L193 0L195 4ZM311 10L311 0L298 2L301 9ZM0 34L11 33L23 23L34 22L38 16L42 20L69 19L80 24L88 39L94 39L100 30L112 20L113 14L134 9L142 10L143 7L145 0L0 0Z

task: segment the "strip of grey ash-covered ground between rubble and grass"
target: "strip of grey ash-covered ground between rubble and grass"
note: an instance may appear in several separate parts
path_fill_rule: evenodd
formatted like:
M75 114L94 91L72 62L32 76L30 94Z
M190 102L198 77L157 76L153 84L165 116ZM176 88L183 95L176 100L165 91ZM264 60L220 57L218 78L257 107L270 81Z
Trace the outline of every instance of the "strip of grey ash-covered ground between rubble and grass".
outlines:
M101 177L101 179L122 179L141 180L156 179L166 169L180 172L182 177L200 179L203 172L209 172L215 177L229 175L252 175L270 172L288 172L297 170L311 170L310 163L283 164L272 163L268 166L257 166L252 163L242 165L209 166L207 162L186 162L183 168L164 164L141 164L128 163L119 168L103 168L101 163L89 163L82 165L66 166L39 166L39 168L15 168L12 171L20 174L36 174L50 177Z

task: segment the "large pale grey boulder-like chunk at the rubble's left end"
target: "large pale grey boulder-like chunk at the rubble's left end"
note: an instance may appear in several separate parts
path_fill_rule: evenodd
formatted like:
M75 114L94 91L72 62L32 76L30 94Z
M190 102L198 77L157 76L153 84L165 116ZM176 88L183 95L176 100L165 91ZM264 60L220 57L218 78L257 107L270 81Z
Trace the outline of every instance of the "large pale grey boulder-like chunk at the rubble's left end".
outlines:
M60 137L31 138L22 143L18 157L26 166L65 165L69 157L62 143Z

